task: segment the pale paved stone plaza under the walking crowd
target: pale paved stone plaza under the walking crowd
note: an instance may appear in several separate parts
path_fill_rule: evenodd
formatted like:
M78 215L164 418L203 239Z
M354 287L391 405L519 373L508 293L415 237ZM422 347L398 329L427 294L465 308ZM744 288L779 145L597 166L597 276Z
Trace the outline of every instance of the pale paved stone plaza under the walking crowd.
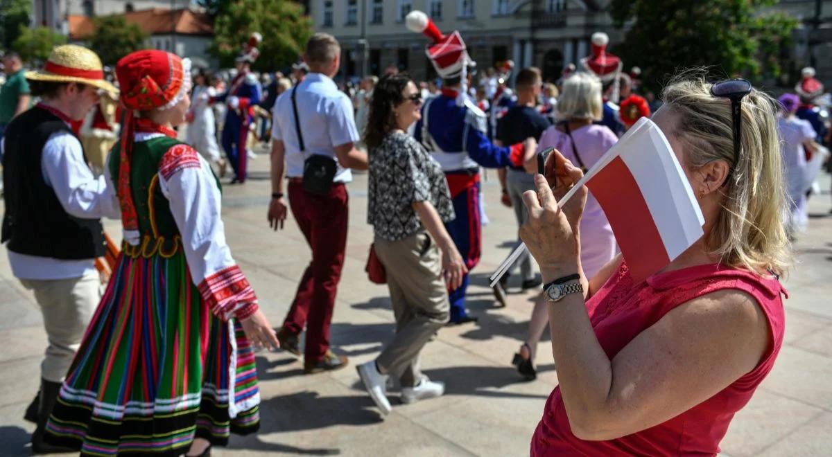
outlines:
M254 285L260 306L279 326L310 252L292 219L270 231L269 159L250 161L244 186L225 186L225 232L235 259ZM259 435L232 438L215 455L527 455L543 404L557 385L551 350L542 342L537 381L521 381L509 364L532 309L532 293L512 294L494 307L487 279L516 236L513 215L498 203L493 172L483 183L491 223L483 229L483 261L473 271L469 309L477 324L446 327L423 351L428 376L447 383L447 395L414 405L391 398L382 420L360 386L354 365L376 356L393 332L384 286L364 273L372 228L366 224L366 175L349 184L347 260L335 307L332 341L349 368L304 376L285 352L258 356L262 426ZM796 248L799 263L785 286L785 344L774 371L733 421L722 443L726 455L832 455L832 216L825 193L810 200L810 232ZM116 221L107 224L121 236ZM33 426L23 410L37 391L46 346L41 315L0 253L0 455L29 455ZM518 292L518 284L513 284ZM726 347L730 351L730 347Z

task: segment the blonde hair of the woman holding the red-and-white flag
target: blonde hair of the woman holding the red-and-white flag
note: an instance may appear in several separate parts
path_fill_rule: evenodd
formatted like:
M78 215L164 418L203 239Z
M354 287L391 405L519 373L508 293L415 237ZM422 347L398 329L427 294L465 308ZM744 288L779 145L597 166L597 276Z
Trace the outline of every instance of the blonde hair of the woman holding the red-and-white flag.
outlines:
M697 72L698 73L698 72ZM671 135L684 145L686 166L725 160L726 199L706 239L721 263L761 273L785 273L791 253L784 227L785 182L777 130L777 102L753 89L742 99L740 155L734 163L730 100L711 96L704 76L685 73L666 86L662 99L676 113Z

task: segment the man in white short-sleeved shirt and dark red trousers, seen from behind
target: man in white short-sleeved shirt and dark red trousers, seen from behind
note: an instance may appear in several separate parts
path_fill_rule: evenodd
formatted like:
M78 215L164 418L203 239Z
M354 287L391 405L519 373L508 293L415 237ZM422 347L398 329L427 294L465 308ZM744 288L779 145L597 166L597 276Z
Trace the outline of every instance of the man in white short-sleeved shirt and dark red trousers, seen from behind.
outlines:
M275 230L283 228L286 219L285 175L289 179L292 214L312 248L312 261L277 335L283 349L300 356L298 336L306 327L305 373L347 365L347 357L329 350L329 323L347 244L349 197L344 184L352 180L350 169L367 170L367 155L355 149L359 132L352 102L332 81L340 56L341 47L334 37L315 33L304 54L310 73L295 88L280 95L272 116L269 224ZM305 189L305 160L313 155L335 162L333 184L326 194Z

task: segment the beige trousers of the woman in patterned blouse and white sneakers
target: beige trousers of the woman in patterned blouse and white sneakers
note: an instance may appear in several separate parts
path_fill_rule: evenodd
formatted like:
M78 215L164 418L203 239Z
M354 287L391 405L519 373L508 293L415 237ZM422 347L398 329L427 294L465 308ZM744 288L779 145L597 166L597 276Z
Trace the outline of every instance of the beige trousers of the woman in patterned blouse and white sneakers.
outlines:
M399 376L402 386L412 387L422 378L419 352L449 318L442 253L424 229L398 241L376 237L374 243L396 318L396 335L376 363Z

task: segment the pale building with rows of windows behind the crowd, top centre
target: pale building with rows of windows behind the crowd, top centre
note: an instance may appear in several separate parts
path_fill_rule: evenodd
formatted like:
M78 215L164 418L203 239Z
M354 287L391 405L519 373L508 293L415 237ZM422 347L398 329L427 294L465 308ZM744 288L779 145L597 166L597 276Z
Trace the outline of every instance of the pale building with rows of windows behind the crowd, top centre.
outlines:
M612 28L608 1L582 0L310 0L315 29L332 33L344 48L345 75L379 74L387 66L418 79L435 76L424 55L426 39L404 27L419 9L443 32L459 30L480 67L512 59L518 67L539 66L557 79L565 64L588 52L597 29Z

